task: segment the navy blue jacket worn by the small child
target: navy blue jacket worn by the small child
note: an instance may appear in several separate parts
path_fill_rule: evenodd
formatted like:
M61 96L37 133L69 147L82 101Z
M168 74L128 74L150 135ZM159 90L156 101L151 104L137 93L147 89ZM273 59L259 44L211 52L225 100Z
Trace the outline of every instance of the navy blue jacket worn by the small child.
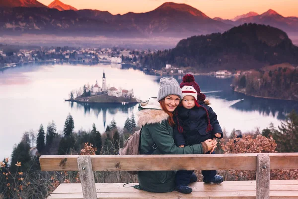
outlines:
M186 109L179 106L175 111L178 111L179 124L183 128L183 133L178 132L177 125L174 127L174 140L177 146L199 144L207 139L215 138L216 133L221 133L221 138L223 137L223 131L215 112L204 102L199 104L207 109L213 130L206 132L208 123L204 108L195 106L192 109ZM174 121L178 124L176 116L174 116Z

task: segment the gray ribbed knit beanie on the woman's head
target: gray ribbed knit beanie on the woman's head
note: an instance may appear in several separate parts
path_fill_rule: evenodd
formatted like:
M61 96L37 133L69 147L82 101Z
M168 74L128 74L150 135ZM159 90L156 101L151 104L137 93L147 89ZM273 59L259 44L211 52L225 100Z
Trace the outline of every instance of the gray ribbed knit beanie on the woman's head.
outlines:
M169 96L169 95L177 95L182 99L182 92L179 86L179 83L175 78L161 78L159 82L159 91L157 100L160 101L161 99Z

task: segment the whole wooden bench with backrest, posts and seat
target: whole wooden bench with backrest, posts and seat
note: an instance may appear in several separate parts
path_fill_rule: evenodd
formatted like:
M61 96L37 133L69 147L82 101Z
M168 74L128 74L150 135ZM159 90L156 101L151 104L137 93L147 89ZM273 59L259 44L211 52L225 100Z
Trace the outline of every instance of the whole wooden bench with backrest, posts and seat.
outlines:
M298 199L298 180L270 180L270 169L298 169L298 153L214 155L41 156L42 171L79 171L81 184L61 184L48 199ZM93 171L256 170L256 181L196 182L191 194L150 193L96 183Z

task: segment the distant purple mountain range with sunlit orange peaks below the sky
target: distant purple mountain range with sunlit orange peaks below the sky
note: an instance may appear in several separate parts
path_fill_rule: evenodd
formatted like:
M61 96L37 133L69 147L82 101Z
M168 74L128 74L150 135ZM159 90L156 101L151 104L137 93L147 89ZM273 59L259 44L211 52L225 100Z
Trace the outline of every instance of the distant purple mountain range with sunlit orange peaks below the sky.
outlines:
M36 0L2 0L0 18L0 34L188 37L224 32L244 23L270 25L288 33L298 32L298 17L283 17L271 9L260 15L249 12L225 20L212 19L187 4L172 2L145 13L113 15L108 11L77 10L59 0L49 6Z

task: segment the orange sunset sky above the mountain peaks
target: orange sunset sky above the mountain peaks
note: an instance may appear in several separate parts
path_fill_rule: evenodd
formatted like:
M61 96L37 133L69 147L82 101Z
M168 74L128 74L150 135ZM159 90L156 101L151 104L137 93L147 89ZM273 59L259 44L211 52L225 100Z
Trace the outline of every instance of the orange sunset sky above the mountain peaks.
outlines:
M49 5L53 0L38 0ZM210 18L232 19L250 11L262 14L273 9L284 17L298 17L298 0L60 0L77 9L97 9L112 14L152 11L165 2L185 3Z

